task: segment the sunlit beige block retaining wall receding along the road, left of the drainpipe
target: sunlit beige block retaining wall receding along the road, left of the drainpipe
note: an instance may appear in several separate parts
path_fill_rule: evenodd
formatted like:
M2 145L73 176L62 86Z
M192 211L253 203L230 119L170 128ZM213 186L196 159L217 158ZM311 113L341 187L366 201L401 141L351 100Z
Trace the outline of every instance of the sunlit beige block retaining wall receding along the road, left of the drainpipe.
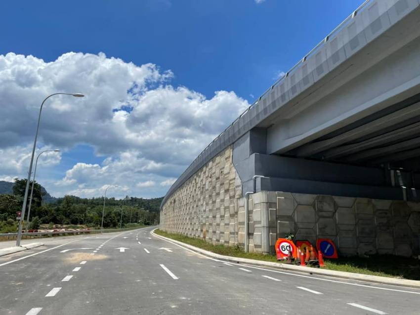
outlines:
M241 187L228 147L169 197L161 209L160 228L212 244L238 244L238 210L245 200Z

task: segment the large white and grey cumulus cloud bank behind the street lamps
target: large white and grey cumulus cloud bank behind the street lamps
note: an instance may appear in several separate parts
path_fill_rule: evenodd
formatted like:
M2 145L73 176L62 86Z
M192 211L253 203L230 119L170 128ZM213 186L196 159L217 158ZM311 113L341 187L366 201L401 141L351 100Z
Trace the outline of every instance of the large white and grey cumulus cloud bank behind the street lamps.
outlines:
M104 184L119 184L125 187L120 191L130 187L135 195L170 185L249 106L233 91L215 91L206 98L187 87L173 87L172 77L155 64L135 65L103 53L69 52L51 62L0 55L0 177L27 172L40 103L46 95L64 91L86 96L48 99L40 146L71 151L87 144L103 162L75 163L65 176L49 181L48 191L89 196L100 194ZM40 163L54 166L60 158L45 153ZM162 195L160 189L155 192Z

